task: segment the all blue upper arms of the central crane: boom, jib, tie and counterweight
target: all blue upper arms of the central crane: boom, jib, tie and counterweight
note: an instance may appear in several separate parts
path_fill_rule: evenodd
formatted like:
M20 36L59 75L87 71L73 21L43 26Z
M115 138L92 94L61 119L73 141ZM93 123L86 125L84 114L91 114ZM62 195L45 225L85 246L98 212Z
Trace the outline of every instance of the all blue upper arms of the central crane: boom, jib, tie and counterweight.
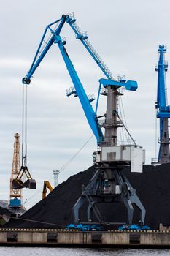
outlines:
M78 96L80 99L80 103L82 105L82 108L85 112L85 116L88 119L88 123L90 125L90 128L92 129L94 135L96 136L97 142L98 144L100 144L103 140L104 140L104 135L101 131L101 127L98 124L98 119L96 116L96 111L98 108L98 100L99 100L99 92L98 92L98 98L97 98L97 103L96 103L96 111L93 110L92 106L90 105L90 101L88 99L87 94L85 93L85 90L83 89L82 83L80 82L80 79L77 75L77 72L74 69L74 66L72 64L72 61L69 59L69 55L66 52L66 48L64 48L64 44L65 42L62 42L61 37L60 37L60 32L61 29L64 25L64 23L67 22L69 23L69 25L72 27L72 29L74 30L74 32L77 35L77 38L81 40L82 44L85 45L85 48L88 50L88 52L90 53L90 55L93 57L93 59L96 61L96 63L98 64L98 67L101 68L101 70L104 72L104 74L106 75L106 77L108 79L101 79L100 83L103 84L104 86L106 86L108 84L112 85L112 86L125 86L125 88L127 90L131 90L131 91L136 91L137 89L137 83L136 81L115 81L112 80L109 69L107 69L104 64L101 64L101 62L98 59L98 56L96 53L93 53L93 50L91 50L88 47L87 42L85 42L85 39L87 39L88 37L85 35L80 34L77 29L74 28L73 23L75 22L75 19L71 19L69 18L69 15L62 15L61 19L56 20L53 23L50 23L50 25L48 25L45 29L45 32L42 36L41 42L39 44L38 49L36 50L36 55L34 57L34 61L31 64L31 67L26 75L25 78L23 78L23 84L29 84L31 82L31 76L34 74L34 72L36 71L36 68L39 66L39 64L41 63L42 59L44 59L47 51L50 49L50 47L53 45L53 43L58 44L59 49L61 50L61 54L63 56L63 60L65 61L66 67L69 71L69 75L72 79L72 83L74 84L74 88L76 90L76 93L74 94L74 96ZM57 29L55 29L53 31L53 29L51 28L52 25L54 25L55 23L59 23ZM45 48L42 50L42 53L39 52L39 50L42 48L42 43L45 41L45 35L47 34L47 30L50 30L52 36L50 37L50 39L48 39L48 41L46 42L46 46ZM100 85L101 87L101 85Z

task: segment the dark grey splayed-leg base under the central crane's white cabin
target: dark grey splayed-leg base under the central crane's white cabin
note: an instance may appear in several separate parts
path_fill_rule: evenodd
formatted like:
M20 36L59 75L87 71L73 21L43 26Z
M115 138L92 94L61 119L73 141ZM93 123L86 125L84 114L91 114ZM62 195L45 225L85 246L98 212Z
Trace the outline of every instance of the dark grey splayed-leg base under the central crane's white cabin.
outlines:
M80 208L85 202L88 203L87 217L88 222L93 221L93 213L98 222L104 224L105 217L101 215L97 204L99 203L124 203L127 208L128 224L133 223L134 207L136 205L140 210L140 224L144 225L145 208L135 189L131 186L128 178L123 174L123 166L98 166L90 182L83 187L82 194L72 208L74 223L80 222Z

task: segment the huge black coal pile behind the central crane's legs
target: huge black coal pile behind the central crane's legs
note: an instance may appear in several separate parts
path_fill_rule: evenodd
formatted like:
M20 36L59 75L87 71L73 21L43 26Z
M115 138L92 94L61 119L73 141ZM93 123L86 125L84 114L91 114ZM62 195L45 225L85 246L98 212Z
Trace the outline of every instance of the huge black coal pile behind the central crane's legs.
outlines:
M36 203L19 220L11 219L5 227L58 228L72 223L72 206L82 192L82 185L88 184L95 170L96 167L92 166L88 170L71 176L58 185L44 200ZM170 164L156 167L144 165L143 173L131 173L128 167L123 171L146 208L145 224L152 229L158 229L160 223L170 226ZM107 222L127 221L127 212L123 203L102 204L100 211ZM80 220L87 221L86 206L81 208ZM134 222L137 223L138 220L139 211L135 208Z

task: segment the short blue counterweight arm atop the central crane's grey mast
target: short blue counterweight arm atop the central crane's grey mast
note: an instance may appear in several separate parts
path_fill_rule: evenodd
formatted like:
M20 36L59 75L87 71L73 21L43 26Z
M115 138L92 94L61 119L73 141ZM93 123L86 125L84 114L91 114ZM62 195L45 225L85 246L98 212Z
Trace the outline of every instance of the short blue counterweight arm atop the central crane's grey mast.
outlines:
M119 88L119 87L123 86L123 87L125 87L126 90L130 90L130 91L136 91L136 89L138 88L137 82L132 81L132 80L121 82L121 81L115 81L115 80L101 78L99 80L99 83L103 84L104 87L105 86L116 86L117 88Z

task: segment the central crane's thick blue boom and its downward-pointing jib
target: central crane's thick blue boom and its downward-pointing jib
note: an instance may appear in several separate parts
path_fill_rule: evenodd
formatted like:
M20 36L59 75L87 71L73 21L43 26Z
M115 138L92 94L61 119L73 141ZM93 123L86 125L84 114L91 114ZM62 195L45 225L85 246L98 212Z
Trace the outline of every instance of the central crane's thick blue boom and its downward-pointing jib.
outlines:
M104 140L104 135L101 131L101 127L98 124L96 113L94 112L92 106L90 105L89 99L87 94L85 94L85 90L83 89L82 83L80 82L80 79L77 75L77 72L74 69L74 66L72 64L72 61L69 59L68 53L66 53L66 48L63 46L63 42L60 37L60 32L63 27L63 24L66 22L66 15L62 15L62 18L60 20L57 20L55 23L59 23L58 28L53 31L53 29L50 28L51 25L54 23L51 23L48 25L45 29L45 32L42 36L41 42L39 44L39 48L36 51L36 55L34 57L34 61L31 64L31 68L28 71L28 74L25 78L23 78L23 83L30 83L31 82L31 76L34 74L36 68L41 63L42 59L45 57L47 51L50 49L50 47L53 45L53 43L57 43L59 49L61 50L61 54L63 56L63 60L65 61L66 67L69 71L69 75L72 79L72 82L74 84L74 88L76 90L76 94L78 95L82 108L85 112L85 116L88 119L88 123L90 125L90 128L93 130L94 135L96 136L98 144L101 143ZM47 45L45 46L44 50L42 50L42 53L40 53L39 57L37 58L39 54L39 50L42 47L42 42L45 39L45 35L47 33L47 29L50 29L52 33L52 37L50 37L49 41L47 42Z

